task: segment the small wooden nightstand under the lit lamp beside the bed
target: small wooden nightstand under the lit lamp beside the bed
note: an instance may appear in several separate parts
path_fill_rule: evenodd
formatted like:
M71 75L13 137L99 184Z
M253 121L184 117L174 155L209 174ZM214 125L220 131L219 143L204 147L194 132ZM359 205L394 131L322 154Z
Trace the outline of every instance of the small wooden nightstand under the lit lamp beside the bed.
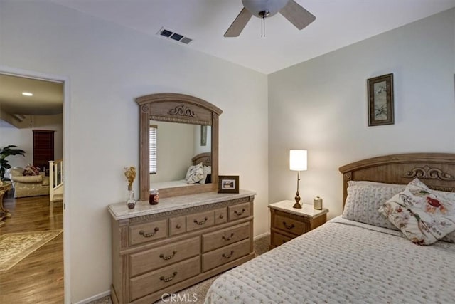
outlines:
M305 234L327 221L328 209L316 210L311 204L303 204L301 209L292 208L295 201L279 201L269 204L270 208L270 248L286 243L296 236Z

